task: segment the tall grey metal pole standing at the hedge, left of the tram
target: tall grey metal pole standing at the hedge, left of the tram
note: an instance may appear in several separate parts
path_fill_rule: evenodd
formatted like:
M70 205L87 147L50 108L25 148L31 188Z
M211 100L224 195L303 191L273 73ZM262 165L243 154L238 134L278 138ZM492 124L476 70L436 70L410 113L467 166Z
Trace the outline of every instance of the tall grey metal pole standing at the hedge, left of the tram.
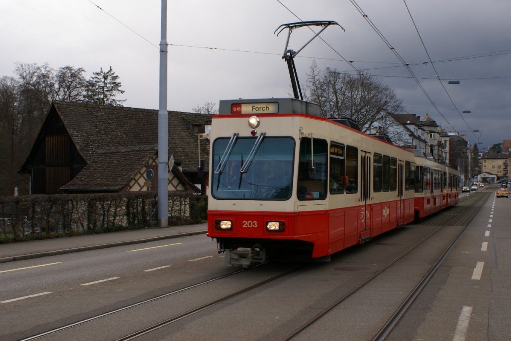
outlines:
M158 111L158 222L169 224L169 113L167 111L167 0L161 0L161 40Z

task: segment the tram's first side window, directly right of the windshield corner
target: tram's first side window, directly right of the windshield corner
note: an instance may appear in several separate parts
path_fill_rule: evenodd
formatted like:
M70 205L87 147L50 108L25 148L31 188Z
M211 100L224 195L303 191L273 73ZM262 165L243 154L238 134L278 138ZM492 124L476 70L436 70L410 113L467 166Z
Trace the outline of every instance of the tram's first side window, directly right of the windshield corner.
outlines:
M301 139L297 181L299 200L324 199L327 197L327 156L327 141L320 139L311 141L310 138Z

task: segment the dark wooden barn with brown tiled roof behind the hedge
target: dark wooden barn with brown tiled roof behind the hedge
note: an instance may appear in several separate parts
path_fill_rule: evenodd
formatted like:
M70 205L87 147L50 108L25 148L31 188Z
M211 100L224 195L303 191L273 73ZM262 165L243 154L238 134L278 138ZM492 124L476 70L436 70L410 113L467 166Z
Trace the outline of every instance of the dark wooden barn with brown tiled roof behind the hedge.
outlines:
M175 161L169 191L205 184L208 142L198 137L210 121L208 114L169 111L169 160L172 154ZM158 110L54 101L18 172L31 175L34 194L157 191L157 135Z

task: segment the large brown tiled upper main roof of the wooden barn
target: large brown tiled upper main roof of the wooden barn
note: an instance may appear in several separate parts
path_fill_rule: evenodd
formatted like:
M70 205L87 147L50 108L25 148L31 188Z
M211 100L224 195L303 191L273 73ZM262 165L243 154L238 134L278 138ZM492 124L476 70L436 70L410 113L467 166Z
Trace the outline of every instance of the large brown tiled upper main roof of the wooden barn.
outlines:
M98 163L91 168L101 167L103 162L107 162L104 161L105 150L143 149L158 144L158 110L64 101L54 101L53 105L87 164ZM197 171L197 134L191 127L203 126L208 121L211 121L208 114L169 111L169 154L174 155L176 163L181 163L184 172ZM206 161L206 169L207 144L207 140L201 143L201 158ZM127 158L134 158L137 152L115 154L116 158L128 154ZM82 172L86 170L87 167ZM101 171L100 168L98 170Z

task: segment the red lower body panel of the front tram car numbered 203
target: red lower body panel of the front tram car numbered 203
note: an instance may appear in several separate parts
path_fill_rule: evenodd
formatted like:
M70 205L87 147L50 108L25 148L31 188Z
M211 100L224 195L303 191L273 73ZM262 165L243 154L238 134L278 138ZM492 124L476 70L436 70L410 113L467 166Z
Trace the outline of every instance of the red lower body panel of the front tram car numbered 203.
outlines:
M207 212L207 237L237 247L293 247L310 244L313 258L328 256L414 219L413 199L305 212ZM216 220L230 220L230 230L215 228ZM281 221L284 231L268 231L268 221ZM223 250L220 250L223 251Z

